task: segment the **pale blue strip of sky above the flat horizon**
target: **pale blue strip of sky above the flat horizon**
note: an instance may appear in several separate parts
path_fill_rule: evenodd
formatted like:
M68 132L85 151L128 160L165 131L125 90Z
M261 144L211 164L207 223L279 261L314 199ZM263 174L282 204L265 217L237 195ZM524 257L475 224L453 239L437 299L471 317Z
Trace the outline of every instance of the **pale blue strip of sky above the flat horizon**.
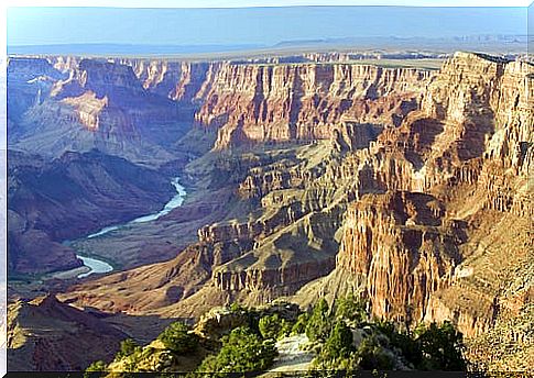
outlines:
M18 4L20 1L24 0L19 0ZM135 1L130 1L130 4L134 5ZM108 0L107 2L113 4L113 1ZM157 0L154 4L164 5L168 2ZM172 3L181 2L173 1ZM255 2L260 3L259 1ZM296 2L299 3L301 1L297 0ZM419 0L419 2L422 1ZM448 1L448 3L454 2ZM473 1L473 3L476 2L478 1ZM491 0L486 0L486 2L491 2ZM513 2L514 0L508 1L508 3ZM73 1L69 1L69 3L73 3ZM115 3L120 4L117 0ZM221 1L211 0L195 3L215 4L221 3ZM226 1L227 5L235 3L237 1ZM261 3L274 3L274 1ZM416 1L410 3L416 3ZM153 5L152 2L150 4ZM479 34L526 34L526 8L271 7L140 9L28 7L8 9L7 25L8 45L11 46L88 43L254 44L270 46L284 41L361 36L450 37Z

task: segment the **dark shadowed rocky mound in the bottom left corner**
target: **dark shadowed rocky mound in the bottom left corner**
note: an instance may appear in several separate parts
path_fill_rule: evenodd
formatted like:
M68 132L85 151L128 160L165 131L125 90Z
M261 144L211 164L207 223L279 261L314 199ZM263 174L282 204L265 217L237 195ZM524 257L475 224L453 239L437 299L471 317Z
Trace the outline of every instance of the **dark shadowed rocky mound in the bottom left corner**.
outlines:
M109 362L127 337L54 296L12 303L8 318L10 371L80 371L95 358Z

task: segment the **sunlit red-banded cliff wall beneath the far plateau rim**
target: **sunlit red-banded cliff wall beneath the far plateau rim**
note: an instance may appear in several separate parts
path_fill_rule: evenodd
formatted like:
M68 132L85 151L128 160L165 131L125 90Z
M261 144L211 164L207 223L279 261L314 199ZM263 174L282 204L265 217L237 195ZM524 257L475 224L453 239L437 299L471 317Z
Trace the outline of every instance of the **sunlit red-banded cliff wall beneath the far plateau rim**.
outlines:
M225 64L195 119L219 129L216 149L329 138L342 116L397 124L431 77L416 69L344 64Z

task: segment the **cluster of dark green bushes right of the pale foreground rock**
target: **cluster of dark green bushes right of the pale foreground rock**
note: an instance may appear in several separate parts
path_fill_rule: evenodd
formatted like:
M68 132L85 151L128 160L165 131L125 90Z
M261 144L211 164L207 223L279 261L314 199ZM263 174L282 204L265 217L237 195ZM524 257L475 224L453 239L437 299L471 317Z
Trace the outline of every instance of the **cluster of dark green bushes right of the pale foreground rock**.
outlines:
M412 334L410 330L401 332L393 322L370 321L364 303L355 297L337 300L334 308L334 315L328 315L327 303L320 301L306 325L308 337L320 344L314 370L466 369L461 333L449 322L422 324Z

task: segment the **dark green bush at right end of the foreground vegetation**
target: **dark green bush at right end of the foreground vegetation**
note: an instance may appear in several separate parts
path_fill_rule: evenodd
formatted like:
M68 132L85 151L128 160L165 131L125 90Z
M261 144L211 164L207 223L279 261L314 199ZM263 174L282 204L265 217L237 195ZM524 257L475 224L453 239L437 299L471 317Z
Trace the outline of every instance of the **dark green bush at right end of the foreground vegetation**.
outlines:
M462 356L464 337L450 322L444 322L440 326L432 323L428 327L418 327L416 335L423 352L422 369L454 371L466 369L466 360Z

